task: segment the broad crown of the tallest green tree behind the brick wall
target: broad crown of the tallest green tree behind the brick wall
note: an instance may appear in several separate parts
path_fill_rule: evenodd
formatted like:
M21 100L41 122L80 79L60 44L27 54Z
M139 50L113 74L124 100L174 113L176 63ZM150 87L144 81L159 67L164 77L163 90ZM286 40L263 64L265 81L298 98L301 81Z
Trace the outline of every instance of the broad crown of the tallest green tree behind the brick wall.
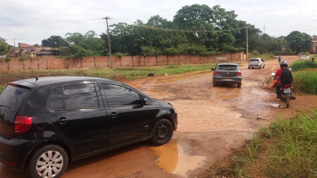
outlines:
M238 28L237 15L234 11L226 11L215 5L210 8L205 4L193 4L184 6L174 15L176 24L186 30L195 31L214 31L214 30L231 30ZM238 34L239 30L206 32L206 33L188 33L188 39L191 42L205 45L210 49L222 49L224 44L234 45L234 34Z

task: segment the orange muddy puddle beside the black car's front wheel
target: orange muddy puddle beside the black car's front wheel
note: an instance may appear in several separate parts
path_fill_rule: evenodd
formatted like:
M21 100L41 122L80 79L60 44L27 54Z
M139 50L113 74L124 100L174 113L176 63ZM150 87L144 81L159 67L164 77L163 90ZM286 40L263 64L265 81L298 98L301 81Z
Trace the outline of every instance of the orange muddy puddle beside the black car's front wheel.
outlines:
M159 156L156 165L168 173L183 177L186 177L187 171L203 166L206 161L206 157L185 154L178 144L165 144L152 149Z

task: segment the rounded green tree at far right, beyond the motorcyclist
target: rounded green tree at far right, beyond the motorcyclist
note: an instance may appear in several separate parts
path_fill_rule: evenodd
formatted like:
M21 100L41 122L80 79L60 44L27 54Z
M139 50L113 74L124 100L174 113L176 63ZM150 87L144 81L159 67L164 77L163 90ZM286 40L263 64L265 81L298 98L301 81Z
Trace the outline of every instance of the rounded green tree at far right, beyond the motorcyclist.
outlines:
M309 51L313 39L309 34L293 31L285 37L290 48L296 53Z

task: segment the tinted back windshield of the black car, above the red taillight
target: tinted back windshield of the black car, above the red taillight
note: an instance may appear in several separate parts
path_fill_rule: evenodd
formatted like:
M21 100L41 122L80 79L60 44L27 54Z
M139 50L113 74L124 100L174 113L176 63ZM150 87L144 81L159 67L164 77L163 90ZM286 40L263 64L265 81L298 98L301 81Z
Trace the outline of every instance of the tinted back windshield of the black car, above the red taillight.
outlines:
M31 90L8 85L0 95L0 107L8 111L18 111Z

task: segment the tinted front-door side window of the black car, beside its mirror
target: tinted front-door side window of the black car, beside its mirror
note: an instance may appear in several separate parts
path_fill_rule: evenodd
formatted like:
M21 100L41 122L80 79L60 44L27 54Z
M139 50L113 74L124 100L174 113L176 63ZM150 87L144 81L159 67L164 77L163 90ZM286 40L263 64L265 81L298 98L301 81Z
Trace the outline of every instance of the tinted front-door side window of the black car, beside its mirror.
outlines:
M141 100L137 92L113 84L102 84L109 107L121 105L140 105Z

